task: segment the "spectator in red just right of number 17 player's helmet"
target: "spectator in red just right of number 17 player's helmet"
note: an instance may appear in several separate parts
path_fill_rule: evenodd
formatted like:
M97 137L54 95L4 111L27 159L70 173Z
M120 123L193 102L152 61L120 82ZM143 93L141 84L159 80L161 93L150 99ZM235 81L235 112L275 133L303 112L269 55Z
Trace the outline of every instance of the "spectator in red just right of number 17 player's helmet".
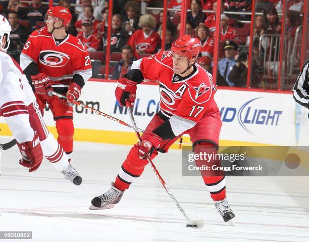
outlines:
M201 56L205 56L209 53L211 56L214 55L215 41L209 35L209 28L205 26L203 23L200 23L196 27L196 36L200 42L200 51Z

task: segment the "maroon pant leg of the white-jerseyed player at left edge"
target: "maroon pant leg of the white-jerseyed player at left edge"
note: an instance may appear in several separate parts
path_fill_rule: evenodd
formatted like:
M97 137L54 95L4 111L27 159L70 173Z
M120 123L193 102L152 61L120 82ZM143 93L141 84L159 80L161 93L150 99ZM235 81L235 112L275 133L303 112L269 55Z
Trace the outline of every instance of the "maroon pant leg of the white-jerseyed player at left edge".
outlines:
M43 120L39 105L36 101L31 103L28 107L29 122L36 134L39 136L40 141L45 140L48 137L49 131Z

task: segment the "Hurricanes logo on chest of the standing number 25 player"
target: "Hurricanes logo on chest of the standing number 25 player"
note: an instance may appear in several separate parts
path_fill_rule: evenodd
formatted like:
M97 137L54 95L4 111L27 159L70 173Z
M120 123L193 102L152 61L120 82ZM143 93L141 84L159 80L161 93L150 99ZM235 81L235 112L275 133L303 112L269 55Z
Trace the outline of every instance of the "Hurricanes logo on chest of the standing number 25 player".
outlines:
M58 51L41 51L39 55L40 63L50 67L63 67L69 60L67 54Z

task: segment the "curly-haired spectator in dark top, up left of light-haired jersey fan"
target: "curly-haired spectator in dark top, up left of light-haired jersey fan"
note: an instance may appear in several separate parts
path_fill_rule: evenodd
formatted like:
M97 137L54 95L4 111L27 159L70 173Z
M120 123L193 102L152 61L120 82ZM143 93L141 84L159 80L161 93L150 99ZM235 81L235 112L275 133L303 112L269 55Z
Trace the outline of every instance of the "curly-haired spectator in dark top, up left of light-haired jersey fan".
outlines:
M128 35L132 35L138 29L140 17L140 4L135 1L129 1L125 5L125 16L122 27L127 31Z

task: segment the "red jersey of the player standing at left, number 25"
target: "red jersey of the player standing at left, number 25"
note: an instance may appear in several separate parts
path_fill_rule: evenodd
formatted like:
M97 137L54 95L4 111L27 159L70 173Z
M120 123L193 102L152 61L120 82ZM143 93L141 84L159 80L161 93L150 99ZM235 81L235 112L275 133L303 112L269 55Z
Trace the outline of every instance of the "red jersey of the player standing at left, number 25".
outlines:
M85 45L70 34L58 45L56 41L45 27L33 31L20 56L22 69L34 62L39 72L44 72L53 81L61 83L79 74L86 82L92 71Z

